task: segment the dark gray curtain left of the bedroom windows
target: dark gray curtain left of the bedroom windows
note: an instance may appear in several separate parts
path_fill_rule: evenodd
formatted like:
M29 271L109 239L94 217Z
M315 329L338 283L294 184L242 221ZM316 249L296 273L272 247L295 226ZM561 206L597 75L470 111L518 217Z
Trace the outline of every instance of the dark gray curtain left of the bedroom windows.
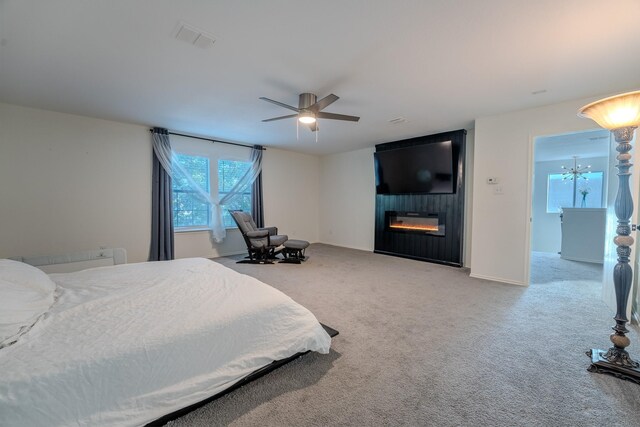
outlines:
M151 249L149 261L174 259L173 250L173 206L171 171L164 165L171 159L169 132L153 128L153 175L151 184Z

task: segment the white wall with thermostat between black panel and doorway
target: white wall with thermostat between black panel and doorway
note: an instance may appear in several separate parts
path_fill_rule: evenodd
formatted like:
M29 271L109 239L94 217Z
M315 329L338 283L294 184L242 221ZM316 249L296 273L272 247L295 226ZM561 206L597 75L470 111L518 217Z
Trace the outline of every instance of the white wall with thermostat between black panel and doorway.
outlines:
M526 285L533 140L597 125L576 111L587 98L476 119L471 276ZM503 194L486 178L500 178Z

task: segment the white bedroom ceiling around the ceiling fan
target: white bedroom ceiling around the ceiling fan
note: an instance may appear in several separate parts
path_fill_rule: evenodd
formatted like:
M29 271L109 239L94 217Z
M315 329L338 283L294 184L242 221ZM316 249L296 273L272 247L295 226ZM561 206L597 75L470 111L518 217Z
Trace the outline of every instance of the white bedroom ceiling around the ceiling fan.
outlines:
M639 22L638 0L0 0L0 101L327 154L638 89ZM318 143L261 122L301 92L361 120Z

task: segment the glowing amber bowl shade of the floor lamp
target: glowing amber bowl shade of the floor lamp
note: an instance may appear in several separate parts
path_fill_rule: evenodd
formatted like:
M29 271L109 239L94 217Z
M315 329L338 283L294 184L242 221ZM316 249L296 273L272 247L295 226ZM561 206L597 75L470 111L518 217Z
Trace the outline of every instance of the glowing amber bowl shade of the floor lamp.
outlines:
M640 90L611 96L585 105L578 116L592 119L605 129L613 130L640 125Z

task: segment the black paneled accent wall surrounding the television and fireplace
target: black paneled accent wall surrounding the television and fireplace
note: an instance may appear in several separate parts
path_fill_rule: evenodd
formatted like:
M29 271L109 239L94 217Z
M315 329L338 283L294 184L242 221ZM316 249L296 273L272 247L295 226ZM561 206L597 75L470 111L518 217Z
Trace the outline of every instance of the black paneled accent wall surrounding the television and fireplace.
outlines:
M422 261L461 267L464 230L464 157L467 131L464 129L402 141L376 145L376 152L411 147L433 142L451 141L453 173L456 176L453 194L376 195L374 252ZM424 233L403 233L385 229L385 212L444 213L446 233L434 236Z

